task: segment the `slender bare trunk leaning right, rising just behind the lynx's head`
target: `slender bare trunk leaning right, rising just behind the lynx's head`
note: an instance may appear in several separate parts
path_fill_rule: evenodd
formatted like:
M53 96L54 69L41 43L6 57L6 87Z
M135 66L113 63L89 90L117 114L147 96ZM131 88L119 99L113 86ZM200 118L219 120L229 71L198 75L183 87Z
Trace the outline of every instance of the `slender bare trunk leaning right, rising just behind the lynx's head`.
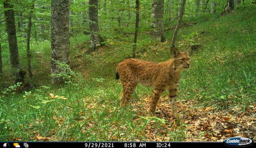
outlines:
M176 28L174 30L174 35L172 36L172 39L171 39L171 46L170 46L171 53L172 53L172 51L175 47L176 36L178 34L180 24L181 24L181 21L182 21L182 17L183 17L183 14L184 14L185 4L186 4L186 0L182 0L181 6L180 6L180 15L179 15L178 23L177 23Z

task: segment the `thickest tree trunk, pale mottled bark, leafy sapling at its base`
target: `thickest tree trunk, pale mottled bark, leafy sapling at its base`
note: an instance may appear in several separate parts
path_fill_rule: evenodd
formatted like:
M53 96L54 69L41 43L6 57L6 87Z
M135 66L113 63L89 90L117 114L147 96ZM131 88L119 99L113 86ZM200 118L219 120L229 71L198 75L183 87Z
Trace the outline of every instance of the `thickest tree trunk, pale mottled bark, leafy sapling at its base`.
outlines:
M60 63L70 66L69 0L52 0L51 8L52 85L63 85L67 70Z

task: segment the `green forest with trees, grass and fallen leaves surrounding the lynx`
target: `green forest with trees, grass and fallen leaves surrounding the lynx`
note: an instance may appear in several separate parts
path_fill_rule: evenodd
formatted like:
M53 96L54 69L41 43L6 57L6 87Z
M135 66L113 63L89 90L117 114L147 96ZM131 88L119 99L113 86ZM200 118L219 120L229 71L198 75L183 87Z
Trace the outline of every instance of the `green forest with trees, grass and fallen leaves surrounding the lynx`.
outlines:
M0 0L0 141L256 140L255 0ZM129 110L121 61L189 49L174 118L152 87Z

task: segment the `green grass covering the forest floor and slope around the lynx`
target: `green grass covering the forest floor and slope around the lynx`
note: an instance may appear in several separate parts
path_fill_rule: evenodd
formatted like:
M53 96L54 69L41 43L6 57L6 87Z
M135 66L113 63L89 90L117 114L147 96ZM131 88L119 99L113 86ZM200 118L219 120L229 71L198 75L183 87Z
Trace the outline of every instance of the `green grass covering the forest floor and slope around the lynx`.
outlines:
M180 29L177 44L182 51L186 49L182 35L206 33L193 38L202 47L191 55L190 70L182 72L178 99L194 99L194 106L214 106L216 110L238 108L236 113L256 103L254 10L255 6L239 9ZM170 40L172 32L166 36ZM143 51L137 55L139 59L165 61L171 57L169 42L150 42L147 38L148 34L138 38L137 50ZM88 36L71 39L72 57L85 50L83 43L88 40ZM43 86L23 94L0 96L0 141L37 141L40 137L44 141L150 141L163 136L167 141L183 141L187 127L182 121L168 123L162 118L145 118L146 109L141 103L140 108L130 106L129 111L119 107L122 88L120 81L114 79L115 67L131 57L130 42L132 36L111 39L98 52L71 58L72 70L80 72L82 78L61 88L48 85L50 42L35 43L38 53L33 55L34 81ZM151 88L139 85L132 103L146 104L143 98L150 95ZM164 127L169 130L163 131Z

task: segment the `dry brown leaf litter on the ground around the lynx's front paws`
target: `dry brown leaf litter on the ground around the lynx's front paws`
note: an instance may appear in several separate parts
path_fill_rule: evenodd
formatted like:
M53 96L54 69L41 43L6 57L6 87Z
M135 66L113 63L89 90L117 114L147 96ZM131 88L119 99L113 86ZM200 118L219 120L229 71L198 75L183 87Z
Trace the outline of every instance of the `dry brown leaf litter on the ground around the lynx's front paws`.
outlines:
M171 106L169 104L168 95L162 97L156 109L156 117L148 118L147 110L150 104L150 98L141 96L139 101L131 101L130 109L134 113L132 118L133 126L124 124L124 122L115 121L106 123L111 125L111 129L107 131L104 141L186 141L186 142L222 142L228 137L248 137L256 140L255 111L256 105L249 105L243 113L235 112L235 110L215 110L215 106L205 108L195 106L194 99L178 101L178 110L184 115L182 119L175 119L171 115ZM87 104L89 110L100 108L108 108L108 105L92 103ZM133 106L133 107L131 107ZM111 113L117 108L108 109ZM97 111L99 111L97 109ZM120 111L120 110L118 110ZM104 119L107 119L106 116ZM90 120L86 125L87 129L97 129L100 131L99 122L95 121L95 117L84 119ZM143 128L141 128L143 127ZM137 128L137 129L133 129ZM140 128L140 129L139 129ZM85 129L84 129L85 130ZM135 132L127 135L127 130ZM87 130L85 130L87 131ZM97 135L99 131L91 131L93 135ZM115 133L116 132L116 133ZM128 134L128 135L129 135ZM102 141L100 139L99 141Z

